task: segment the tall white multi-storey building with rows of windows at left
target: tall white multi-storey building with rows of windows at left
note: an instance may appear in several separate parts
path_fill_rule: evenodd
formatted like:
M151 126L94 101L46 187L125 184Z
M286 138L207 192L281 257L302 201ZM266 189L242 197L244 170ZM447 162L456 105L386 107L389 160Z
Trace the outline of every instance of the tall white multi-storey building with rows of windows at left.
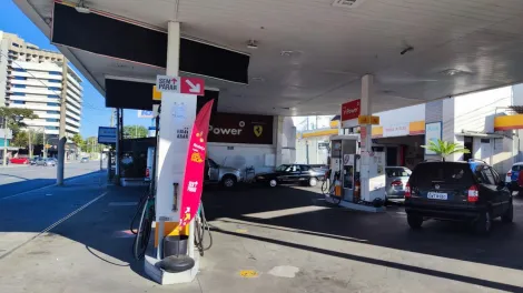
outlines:
M57 137L60 123L65 57L39 49L18 36L0 31L0 105L31 109L38 119L28 128ZM67 68L66 133L80 132L82 80Z

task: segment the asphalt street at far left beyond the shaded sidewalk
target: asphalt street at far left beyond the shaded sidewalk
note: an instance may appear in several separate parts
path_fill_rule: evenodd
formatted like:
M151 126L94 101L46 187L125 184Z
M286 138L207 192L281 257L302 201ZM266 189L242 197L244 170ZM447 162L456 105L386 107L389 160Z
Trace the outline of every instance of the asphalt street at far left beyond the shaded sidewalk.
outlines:
M71 180L100 170L100 162L66 164L65 179ZM0 166L0 199L52 185L57 180L56 166L13 165Z

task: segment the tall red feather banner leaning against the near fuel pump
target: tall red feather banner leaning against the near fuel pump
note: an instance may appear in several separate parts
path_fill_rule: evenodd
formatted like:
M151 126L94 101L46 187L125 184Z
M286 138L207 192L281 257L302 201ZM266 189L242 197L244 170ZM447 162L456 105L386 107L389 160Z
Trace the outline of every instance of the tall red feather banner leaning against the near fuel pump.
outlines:
M179 229L190 223L198 212L204 190L205 158L207 153L207 134L214 101L208 101L196 115L189 137L189 148L181 184L181 206Z

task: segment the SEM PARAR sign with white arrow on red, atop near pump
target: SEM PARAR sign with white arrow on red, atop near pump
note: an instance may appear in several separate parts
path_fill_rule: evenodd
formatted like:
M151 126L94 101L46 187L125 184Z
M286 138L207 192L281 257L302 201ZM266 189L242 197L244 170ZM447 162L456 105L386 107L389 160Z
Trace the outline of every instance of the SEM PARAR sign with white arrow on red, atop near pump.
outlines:
M197 78L157 75L156 90L159 92L204 95L205 81Z

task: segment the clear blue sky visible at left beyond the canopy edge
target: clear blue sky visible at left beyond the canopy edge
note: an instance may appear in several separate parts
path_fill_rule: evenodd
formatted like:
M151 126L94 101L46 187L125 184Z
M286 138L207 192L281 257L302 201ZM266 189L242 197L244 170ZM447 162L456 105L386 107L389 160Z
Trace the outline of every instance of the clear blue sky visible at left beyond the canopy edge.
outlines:
M58 49L50 43L49 39L18 9L11 0L0 0L0 30L16 33L27 42L33 43L42 49L58 51ZM76 71L83 79L83 105L80 134L83 138L96 137L98 133L98 127L109 125L111 109L106 108L105 98L78 70ZM136 110L126 110L124 119L124 125L150 125L149 119L138 119Z

